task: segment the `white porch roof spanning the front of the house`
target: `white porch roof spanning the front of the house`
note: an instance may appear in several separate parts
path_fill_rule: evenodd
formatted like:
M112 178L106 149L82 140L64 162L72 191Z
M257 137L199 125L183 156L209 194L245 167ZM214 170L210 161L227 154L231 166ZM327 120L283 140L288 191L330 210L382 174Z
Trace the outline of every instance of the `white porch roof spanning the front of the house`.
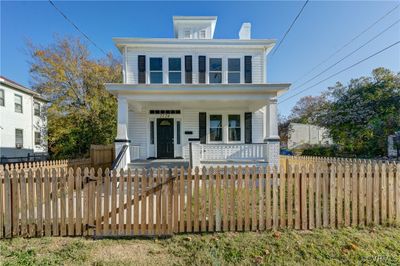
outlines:
M261 84L120 84L106 83L107 90L115 96L133 96L137 100L196 100L210 99L227 100L260 100L271 98L286 92L289 83L261 83ZM193 97L195 96L195 97Z

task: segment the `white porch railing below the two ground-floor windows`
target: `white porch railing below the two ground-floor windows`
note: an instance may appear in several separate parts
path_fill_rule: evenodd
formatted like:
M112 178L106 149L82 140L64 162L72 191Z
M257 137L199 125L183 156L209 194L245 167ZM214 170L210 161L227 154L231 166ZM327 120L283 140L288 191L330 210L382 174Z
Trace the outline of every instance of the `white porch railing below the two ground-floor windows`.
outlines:
M200 161L266 161L267 144L199 144Z

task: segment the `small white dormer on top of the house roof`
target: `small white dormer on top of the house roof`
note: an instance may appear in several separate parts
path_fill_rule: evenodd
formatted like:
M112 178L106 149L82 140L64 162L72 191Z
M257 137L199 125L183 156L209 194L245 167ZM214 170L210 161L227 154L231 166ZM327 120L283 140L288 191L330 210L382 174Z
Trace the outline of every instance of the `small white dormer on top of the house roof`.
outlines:
M217 17L174 16L173 21L177 39L213 39Z

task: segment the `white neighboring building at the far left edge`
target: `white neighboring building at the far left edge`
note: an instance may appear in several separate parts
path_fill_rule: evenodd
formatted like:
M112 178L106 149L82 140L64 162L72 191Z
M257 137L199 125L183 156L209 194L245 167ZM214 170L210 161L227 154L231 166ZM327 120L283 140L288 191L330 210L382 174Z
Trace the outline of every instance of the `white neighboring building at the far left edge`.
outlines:
M1 163L47 156L45 104L38 93L0 76Z

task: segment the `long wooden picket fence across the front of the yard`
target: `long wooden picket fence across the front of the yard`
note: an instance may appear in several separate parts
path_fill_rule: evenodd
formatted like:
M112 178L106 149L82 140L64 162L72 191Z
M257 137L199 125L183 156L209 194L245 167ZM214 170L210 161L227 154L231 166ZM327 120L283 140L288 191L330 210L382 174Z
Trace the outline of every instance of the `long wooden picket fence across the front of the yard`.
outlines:
M399 164L0 171L0 238L400 223Z

